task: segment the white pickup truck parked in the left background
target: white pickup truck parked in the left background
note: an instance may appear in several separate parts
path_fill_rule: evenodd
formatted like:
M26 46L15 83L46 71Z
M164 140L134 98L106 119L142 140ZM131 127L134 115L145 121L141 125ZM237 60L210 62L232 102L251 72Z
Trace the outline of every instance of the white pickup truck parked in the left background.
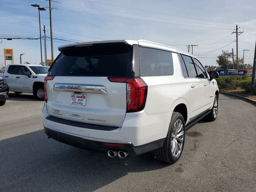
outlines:
M44 77L48 67L27 64L9 64L4 71L10 91L16 94L33 93L39 100L44 100Z

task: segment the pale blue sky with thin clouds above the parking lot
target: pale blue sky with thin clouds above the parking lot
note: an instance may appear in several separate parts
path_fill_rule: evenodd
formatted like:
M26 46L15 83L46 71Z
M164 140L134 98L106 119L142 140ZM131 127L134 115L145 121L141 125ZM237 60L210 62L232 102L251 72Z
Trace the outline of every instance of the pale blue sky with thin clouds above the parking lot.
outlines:
M41 11L41 28L50 37L48 0L0 0L0 38L5 36L39 37L38 10L30 4L46 8ZM144 39L188 51L202 64L217 65L222 50L234 49L238 24L238 56L253 64L256 41L255 0L52 0L54 58L58 46L96 40ZM43 34L43 31L42 31ZM46 38L47 58L51 58L50 39ZM44 61L44 41L43 61ZM40 40L0 39L0 66L4 48L14 52L14 63L40 63ZM191 52L191 49L190 49ZM6 61L7 64L10 60Z

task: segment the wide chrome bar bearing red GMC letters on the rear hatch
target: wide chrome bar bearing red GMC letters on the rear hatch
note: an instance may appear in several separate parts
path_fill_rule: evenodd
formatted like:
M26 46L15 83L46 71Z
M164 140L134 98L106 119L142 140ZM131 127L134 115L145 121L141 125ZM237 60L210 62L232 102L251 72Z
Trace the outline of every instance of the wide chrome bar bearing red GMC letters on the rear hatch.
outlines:
M54 84L54 90L107 94L107 90L106 90L105 86L91 85L91 84L59 84L59 83L56 83L56 84Z

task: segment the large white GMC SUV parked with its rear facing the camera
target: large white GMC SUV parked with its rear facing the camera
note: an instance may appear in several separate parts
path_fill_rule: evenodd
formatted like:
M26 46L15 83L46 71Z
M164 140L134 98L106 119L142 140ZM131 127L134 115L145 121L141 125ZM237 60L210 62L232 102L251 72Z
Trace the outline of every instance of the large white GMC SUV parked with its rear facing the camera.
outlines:
M60 46L45 77L47 138L126 157L154 150L174 163L185 131L218 112L217 72L194 56L146 40Z

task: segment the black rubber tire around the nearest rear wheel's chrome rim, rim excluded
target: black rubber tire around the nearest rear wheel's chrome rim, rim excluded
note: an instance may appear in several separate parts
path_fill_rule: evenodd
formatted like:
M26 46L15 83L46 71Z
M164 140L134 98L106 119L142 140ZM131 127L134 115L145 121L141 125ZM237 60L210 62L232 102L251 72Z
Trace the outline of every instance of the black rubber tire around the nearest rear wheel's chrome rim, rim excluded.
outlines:
M174 125L176 124L176 122L182 123L182 127L183 127L182 145L181 145L180 150L177 152L177 156L173 155L172 148L171 148L173 146L172 145L172 132L175 131L174 130ZM156 158L158 160L162 161L162 162L166 162L166 163L169 163L169 164L173 164L176 161L178 161L181 154L182 154L183 147L184 147L185 132L186 132L185 131L185 122L184 122L184 118L183 118L182 114L180 114L178 112L173 112L171 122L170 122L170 125L169 125L169 130L168 130L166 139L164 141L164 145L161 148L156 149L154 151L154 154L155 154ZM177 134L174 134L174 136L177 136ZM173 141L175 143L177 141L176 138L174 138ZM177 149L178 149L178 146L177 146Z

